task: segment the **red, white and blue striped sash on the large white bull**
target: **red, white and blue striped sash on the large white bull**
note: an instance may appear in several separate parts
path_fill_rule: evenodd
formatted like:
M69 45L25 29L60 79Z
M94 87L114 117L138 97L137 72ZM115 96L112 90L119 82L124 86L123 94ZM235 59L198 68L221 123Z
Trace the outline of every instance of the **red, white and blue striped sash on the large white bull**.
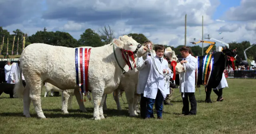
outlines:
M88 67L91 48L76 48L76 84L80 87L79 92L82 99L82 93L88 92Z

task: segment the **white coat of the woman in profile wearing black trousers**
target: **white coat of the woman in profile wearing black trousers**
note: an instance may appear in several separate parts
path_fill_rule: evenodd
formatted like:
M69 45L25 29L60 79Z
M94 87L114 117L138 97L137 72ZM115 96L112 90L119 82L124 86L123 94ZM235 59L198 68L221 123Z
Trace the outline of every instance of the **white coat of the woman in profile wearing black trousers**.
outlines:
M186 73L185 73L185 81L184 81L184 72L180 73L180 93L184 91L185 93L195 93L195 81L196 81L196 65L197 60L191 54L186 57L186 59L182 59L188 61L185 63Z

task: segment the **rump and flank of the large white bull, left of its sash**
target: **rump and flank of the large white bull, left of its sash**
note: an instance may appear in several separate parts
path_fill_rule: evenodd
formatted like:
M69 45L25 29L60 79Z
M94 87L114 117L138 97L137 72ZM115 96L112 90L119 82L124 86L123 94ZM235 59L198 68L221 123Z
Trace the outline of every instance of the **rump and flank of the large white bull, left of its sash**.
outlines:
M33 43L22 52L20 66L25 79L39 75L61 89L72 89L76 84L74 55L74 48Z

